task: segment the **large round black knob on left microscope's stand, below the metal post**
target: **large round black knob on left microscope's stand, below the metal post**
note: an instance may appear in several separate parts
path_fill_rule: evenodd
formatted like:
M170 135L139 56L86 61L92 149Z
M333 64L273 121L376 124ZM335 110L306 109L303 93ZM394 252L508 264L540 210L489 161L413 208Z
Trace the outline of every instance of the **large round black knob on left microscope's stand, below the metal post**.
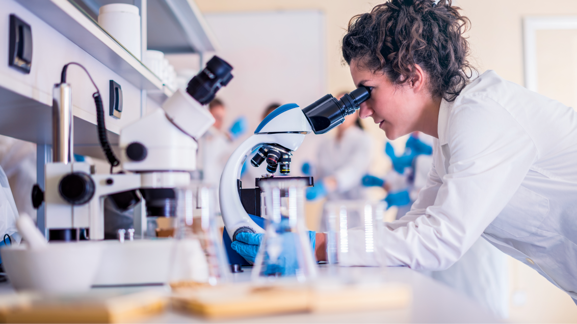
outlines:
M94 196L95 185L92 178L84 172L74 172L63 177L58 185L62 199L72 205L88 203Z

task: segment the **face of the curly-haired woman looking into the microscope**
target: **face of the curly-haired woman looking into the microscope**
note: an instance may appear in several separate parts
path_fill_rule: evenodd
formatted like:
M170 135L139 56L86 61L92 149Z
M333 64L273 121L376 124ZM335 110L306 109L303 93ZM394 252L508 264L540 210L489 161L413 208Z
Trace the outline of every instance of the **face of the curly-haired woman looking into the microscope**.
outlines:
M373 74L350 64L355 85L372 87L370 99L361 104L359 116L373 117L374 123L385 131L387 138L394 140L418 129L419 117L424 108L425 98L414 86L395 86L384 74Z

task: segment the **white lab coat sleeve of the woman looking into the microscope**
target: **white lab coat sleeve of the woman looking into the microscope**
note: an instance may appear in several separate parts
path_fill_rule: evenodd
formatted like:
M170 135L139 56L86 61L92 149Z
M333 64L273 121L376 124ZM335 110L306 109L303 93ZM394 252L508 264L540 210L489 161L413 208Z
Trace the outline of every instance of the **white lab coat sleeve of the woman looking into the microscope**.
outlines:
M499 215L538 158L527 132L488 97L459 97L447 123L447 144L436 150L447 161L436 167L447 174L438 186L432 172L409 215L385 227L381 248L387 265L447 269Z

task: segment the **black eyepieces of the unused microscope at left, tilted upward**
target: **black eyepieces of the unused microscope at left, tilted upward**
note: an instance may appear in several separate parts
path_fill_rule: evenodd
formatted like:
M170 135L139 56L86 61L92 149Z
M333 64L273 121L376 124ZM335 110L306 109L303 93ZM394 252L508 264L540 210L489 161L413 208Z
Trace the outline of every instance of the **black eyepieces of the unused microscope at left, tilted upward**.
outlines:
M208 61L204 70L190 79L186 92L200 104L206 105L215 98L220 88L233 79L233 75L230 74L232 70L230 64L215 55Z

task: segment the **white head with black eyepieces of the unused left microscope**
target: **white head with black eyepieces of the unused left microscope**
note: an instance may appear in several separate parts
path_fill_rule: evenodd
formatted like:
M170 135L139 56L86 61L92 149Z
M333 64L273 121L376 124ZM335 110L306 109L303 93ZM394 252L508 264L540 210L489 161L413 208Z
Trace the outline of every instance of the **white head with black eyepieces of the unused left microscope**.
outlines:
M174 216L174 188L190 184L197 141L215 122L205 105L230 82L232 69L213 56L186 92L177 90L162 109L122 129L122 168L140 174L148 216Z

